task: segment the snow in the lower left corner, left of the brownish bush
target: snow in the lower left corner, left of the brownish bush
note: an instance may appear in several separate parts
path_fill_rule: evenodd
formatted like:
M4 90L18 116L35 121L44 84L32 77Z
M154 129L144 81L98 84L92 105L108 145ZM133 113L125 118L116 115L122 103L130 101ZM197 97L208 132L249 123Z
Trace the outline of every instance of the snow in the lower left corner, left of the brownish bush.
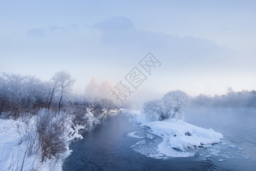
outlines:
M17 132L18 127L23 127L25 123L20 120L3 120L0 119L0 170L15 170L22 166L24 158L25 165L23 170L32 168L45 170L49 167L52 160L40 163L39 156L32 154L27 155L25 141L21 142L21 136ZM20 129L21 130L21 129Z

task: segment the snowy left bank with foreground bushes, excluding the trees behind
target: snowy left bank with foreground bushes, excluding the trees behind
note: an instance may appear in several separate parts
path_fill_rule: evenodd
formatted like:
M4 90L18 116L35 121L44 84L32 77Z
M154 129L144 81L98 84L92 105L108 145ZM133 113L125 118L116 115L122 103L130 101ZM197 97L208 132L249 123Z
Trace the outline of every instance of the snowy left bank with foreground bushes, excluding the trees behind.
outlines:
M63 160L72 152L68 148L70 141L83 139L82 131L109 115L117 115L117 110L100 115L87 111L84 125L74 125L74 116L70 114L54 115L47 109L41 109L27 123L19 119L0 119L0 170L62 170ZM60 143L63 145L59 146ZM47 157L45 152L50 149L56 153Z

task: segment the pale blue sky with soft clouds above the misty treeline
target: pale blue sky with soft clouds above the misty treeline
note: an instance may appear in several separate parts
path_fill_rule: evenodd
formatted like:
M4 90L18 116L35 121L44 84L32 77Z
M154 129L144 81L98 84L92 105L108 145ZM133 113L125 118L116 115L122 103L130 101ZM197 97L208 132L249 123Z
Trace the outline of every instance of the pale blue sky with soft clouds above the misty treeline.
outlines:
M147 80L135 101L255 89L255 9L234 0L0 0L0 72L48 80L66 70L83 91L93 75L115 86L138 67ZM151 75L139 64L148 52L161 63Z

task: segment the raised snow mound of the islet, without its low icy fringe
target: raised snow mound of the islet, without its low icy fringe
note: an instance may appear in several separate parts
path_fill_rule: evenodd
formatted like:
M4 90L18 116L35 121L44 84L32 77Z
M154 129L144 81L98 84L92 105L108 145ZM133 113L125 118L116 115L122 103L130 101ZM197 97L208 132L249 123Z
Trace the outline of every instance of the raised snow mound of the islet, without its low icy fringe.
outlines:
M215 132L213 129L200 128L182 120L168 119L143 125L147 125L151 128L152 133L164 138L161 146L164 145L182 152L193 152L194 146L216 144L223 139L221 133Z

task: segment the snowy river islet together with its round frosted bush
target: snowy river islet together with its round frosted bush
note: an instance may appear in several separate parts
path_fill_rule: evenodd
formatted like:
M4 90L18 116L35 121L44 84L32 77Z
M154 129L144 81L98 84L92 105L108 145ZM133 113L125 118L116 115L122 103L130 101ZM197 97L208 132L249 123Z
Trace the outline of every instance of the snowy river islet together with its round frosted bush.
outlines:
M197 127L182 120L188 104L189 96L185 92L171 91L162 99L144 103L143 112L130 112L132 117L141 124L140 127L162 138L162 141L155 145L155 154L153 152L149 156L189 157L194 156L198 148L220 143L223 139L221 133L213 129ZM132 135L137 136L135 133ZM140 145L145 145L145 141L140 141L132 148L139 148ZM140 150L140 153L144 152Z

